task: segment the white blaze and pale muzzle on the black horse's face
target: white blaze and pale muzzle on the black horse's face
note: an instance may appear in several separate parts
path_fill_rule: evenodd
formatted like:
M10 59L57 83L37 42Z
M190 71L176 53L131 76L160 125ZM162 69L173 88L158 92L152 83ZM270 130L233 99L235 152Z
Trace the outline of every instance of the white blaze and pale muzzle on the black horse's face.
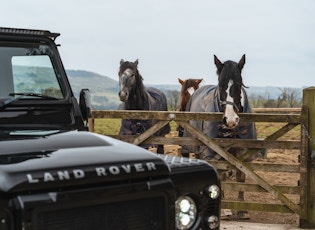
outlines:
M228 88L226 89L226 101L234 103L233 97L230 95L230 88L233 85L233 81L230 80L228 83ZM231 104L225 105L224 117L226 121L227 128L233 129L238 125L239 116L234 111L234 106Z

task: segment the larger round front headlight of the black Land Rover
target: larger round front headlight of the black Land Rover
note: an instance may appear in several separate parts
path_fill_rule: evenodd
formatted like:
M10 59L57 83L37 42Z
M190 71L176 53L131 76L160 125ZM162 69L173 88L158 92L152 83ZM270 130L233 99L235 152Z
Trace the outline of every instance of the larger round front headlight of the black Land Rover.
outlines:
M189 229L196 221L197 207L194 200L189 196L181 196L175 202L176 228Z

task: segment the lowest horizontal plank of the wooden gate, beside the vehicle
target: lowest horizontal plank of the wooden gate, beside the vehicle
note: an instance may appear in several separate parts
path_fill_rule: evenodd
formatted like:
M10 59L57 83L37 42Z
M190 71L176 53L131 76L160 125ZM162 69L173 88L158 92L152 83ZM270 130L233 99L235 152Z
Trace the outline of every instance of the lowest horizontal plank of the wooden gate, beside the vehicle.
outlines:
M251 210L260 212L280 212L280 213L294 213L287 206L282 204L260 204L253 202L241 201L221 201L221 209L235 209L235 210Z

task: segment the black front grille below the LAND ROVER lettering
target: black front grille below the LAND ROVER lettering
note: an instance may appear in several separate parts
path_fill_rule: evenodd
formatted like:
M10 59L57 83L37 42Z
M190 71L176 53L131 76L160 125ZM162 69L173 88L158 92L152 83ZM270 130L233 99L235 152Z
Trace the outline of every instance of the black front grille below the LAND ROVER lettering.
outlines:
M164 197L40 212L38 230L164 230Z

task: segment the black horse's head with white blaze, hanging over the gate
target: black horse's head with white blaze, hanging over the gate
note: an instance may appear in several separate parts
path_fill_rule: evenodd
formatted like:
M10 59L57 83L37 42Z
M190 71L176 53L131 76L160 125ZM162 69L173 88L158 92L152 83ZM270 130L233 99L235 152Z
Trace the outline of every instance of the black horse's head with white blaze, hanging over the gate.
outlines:
M238 63L225 61L222 63L214 55L214 63L217 67L218 88L216 96L219 101L220 111L223 112L223 124L227 129L235 128L239 123L239 112L243 112L245 87L242 81L242 69L245 64L245 54Z

